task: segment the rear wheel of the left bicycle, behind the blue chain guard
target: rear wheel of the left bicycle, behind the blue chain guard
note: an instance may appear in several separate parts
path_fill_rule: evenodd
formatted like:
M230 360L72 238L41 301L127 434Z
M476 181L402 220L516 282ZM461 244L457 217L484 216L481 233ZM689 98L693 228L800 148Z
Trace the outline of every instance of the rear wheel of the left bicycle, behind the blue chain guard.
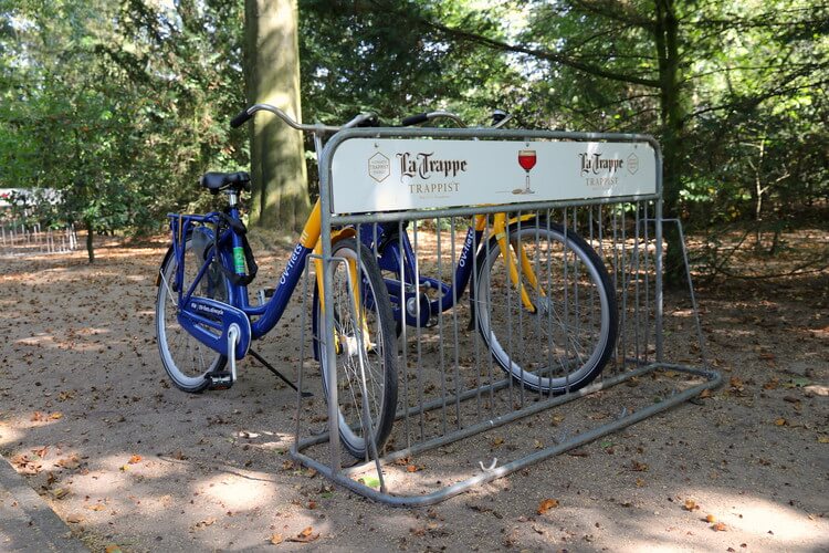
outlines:
M193 248L192 238L185 243L185 274L180 283L188 290L204 263L203 252ZM201 259L200 259L201 258ZM175 274L178 268L176 255L170 252L160 269L160 283L156 296L156 340L161 363L177 388L199 393L210 382L204 375L221 371L228 358L216 353L178 324L178 289ZM201 279L197 294L222 302L228 301L228 281L218 267L211 265Z

